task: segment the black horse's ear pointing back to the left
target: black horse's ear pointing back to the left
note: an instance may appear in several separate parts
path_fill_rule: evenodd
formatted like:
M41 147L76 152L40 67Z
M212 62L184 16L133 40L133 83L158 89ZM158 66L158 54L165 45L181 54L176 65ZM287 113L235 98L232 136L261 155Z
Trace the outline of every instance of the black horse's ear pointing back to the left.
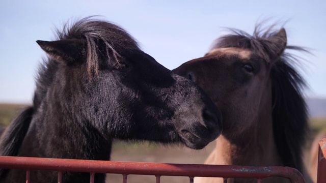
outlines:
M66 39L36 42L49 56L66 64L73 64L86 58L86 42L84 40Z

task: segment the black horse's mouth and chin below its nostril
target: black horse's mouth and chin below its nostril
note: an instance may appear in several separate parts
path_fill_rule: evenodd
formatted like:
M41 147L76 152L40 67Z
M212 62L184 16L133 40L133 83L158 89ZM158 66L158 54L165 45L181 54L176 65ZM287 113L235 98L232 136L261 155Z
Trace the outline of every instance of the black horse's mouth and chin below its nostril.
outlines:
M179 135L183 139L184 144L192 149L202 149L210 142L188 130L181 130Z

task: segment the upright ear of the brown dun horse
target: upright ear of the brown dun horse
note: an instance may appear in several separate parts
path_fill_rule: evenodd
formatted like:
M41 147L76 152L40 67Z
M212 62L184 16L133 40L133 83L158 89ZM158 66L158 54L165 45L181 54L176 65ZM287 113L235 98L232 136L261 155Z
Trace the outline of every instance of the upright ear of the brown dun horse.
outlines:
M271 50L269 50L271 51L271 55L273 55L273 57L279 57L285 50L287 44L285 29L281 28L277 34L269 37L268 41L273 43L273 47L271 47Z

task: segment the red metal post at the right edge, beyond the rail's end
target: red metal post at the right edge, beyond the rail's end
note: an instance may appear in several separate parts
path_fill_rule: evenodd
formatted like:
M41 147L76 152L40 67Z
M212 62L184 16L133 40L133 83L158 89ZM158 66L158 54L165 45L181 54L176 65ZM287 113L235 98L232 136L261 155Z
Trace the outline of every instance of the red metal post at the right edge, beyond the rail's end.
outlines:
M319 141L317 183L326 182L326 138Z

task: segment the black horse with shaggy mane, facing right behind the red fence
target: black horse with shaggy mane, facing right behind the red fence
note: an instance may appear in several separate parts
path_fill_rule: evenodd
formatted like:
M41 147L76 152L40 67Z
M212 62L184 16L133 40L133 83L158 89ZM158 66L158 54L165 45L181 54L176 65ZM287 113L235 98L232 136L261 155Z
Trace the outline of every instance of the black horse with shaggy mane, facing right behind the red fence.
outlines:
M221 134L221 114L209 97L115 24L88 17L67 23L57 41L37 43L49 57L33 105L3 134L3 156L110 160L114 138L201 149ZM21 182L25 174L3 170L0 178ZM56 179L56 172L31 173L32 182ZM63 175L63 182L88 181L87 173Z

